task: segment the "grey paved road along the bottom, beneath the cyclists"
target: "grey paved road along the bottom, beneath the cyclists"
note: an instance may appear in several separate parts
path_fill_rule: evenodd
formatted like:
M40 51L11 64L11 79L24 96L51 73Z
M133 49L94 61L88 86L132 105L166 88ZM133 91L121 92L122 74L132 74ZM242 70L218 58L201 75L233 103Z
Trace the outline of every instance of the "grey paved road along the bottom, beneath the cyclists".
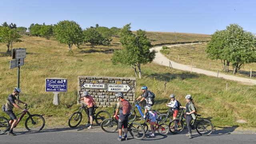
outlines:
M211 136L200 136L193 133L188 139L185 134L163 136L146 134L144 140L135 140L128 134L128 140L116 140L118 133L102 131L90 132L87 129L54 128L39 133L16 132L17 136L0 135L0 144L256 144L255 134L230 134L230 132L214 132ZM11 140L11 141L10 141Z

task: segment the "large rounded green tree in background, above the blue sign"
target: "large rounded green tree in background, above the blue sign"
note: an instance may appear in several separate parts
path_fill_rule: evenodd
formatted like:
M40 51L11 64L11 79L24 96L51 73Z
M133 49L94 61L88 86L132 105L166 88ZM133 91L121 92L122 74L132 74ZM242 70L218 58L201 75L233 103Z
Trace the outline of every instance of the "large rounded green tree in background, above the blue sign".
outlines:
M82 42L82 28L74 21L63 20L54 25L54 36L62 44L68 44L72 51L72 45Z

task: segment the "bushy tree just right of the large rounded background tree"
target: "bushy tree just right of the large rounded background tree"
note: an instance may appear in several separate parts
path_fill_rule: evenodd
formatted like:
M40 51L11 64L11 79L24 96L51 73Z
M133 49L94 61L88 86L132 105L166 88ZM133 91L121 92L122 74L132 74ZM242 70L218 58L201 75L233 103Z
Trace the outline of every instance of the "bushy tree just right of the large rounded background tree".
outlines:
M100 32L96 31L95 28L87 28L83 33L84 42L90 42L92 48L94 45L102 44L102 40L104 40Z

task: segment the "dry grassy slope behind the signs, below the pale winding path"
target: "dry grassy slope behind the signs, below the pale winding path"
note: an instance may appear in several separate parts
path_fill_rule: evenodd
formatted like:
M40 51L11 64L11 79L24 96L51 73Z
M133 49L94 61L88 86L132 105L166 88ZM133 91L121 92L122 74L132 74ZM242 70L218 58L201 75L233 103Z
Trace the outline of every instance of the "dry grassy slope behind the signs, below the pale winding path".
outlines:
M134 71L129 66L112 65L111 53L87 51L118 49L120 44L117 44L117 40L106 47L90 48L85 45L81 46L82 49L74 48L73 53L68 52L67 45L55 40L38 37L23 37L22 40L14 45L27 48L25 64L20 71L20 99L29 104L32 114L44 114L46 125L67 125L70 114L78 109L78 76L134 77ZM5 51L6 46L0 44L0 52ZM10 60L11 57L0 57L0 104L6 102L8 94L17 84L17 68L9 69ZM141 80L137 79L136 97L141 94L140 86L147 85L156 94L154 108L160 112L167 111L165 104L169 102L171 93L176 94L183 106L186 102L184 96L192 94L198 113L209 118L215 126L256 127L255 86L228 81L230 87L226 91L227 80L179 70L170 71L168 67L157 64L142 65L142 76ZM52 104L53 94L45 92L45 78L50 77L68 78L68 92L60 94L59 106ZM166 88L164 82L167 82ZM0 115L6 116L2 111ZM237 123L238 119L246 120L247 123Z

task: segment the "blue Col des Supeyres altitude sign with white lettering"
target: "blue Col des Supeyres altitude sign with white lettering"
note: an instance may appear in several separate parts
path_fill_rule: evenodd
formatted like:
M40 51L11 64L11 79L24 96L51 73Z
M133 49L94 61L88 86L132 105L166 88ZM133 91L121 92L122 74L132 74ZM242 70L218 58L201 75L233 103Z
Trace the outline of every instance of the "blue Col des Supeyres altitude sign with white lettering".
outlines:
M46 78L45 91L46 92L67 92L68 80L67 79L51 79Z

